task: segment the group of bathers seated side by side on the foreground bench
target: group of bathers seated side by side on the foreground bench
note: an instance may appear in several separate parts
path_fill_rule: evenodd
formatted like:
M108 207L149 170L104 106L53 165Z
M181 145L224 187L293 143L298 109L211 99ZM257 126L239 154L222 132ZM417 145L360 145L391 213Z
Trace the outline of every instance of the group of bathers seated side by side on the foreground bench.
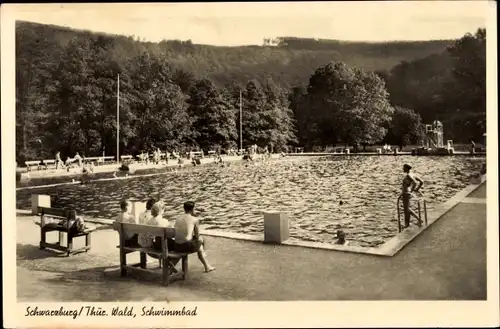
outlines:
M135 218L132 214L132 203L129 200L120 202L120 214L115 221L120 223L132 223L140 225L172 227L175 229L173 239L167 239L167 248L179 253L197 253L198 259L205 268L205 272L211 272L215 267L207 261L205 252L205 241L200 236L199 220L194 216L195 204L192 201L184 203L184 214L181 214L173 221L163 217L165 204L163 201L149 199L146 202L146 210ZM155 251L162 251L161 238L149 234L127 234L125 233L125 245L128 247L152 248ZM175 265L175 264L174 264Z

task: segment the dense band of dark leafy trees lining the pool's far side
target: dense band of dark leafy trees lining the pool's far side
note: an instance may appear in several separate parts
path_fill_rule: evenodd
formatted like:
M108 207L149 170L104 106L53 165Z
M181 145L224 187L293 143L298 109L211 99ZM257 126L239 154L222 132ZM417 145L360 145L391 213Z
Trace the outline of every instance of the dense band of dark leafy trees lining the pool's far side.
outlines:
M114 154L118 75L122 154L153 147L237 147L240 95L244 146L311 149L382 140L405 145L421 136L421 122L434 119L449 123L451 134L468 129L477 136L484 127L484 30L464 36L443 53L402 62L390 71L384 65L379 70L362 69L335 56L317 65L303 56L300 61L307 64L300 67L313 69L308 72L309 82L295 83L294 88L288 88L293 79L283 83L286 77L272 74L285 51L276 53L276 47L260 47L273 52L273 59L256 65L241 63L242 54L255 47L227 48L233 55L241 52L239 70L229 73L214 69L220 61L210 63L219 47L189 41L150 44L65 29L54 34L53 30L17 25L20 161L51 156L55 150L69 156L76 151L88 156ZM291 46L278 48L287 47ZM179 65L189 62L186 58L202 57L205 61L194 68ZM262 74L259 65L268 74ZM211 68L204 71L207 66ZM292 69L287 72L297 75Z

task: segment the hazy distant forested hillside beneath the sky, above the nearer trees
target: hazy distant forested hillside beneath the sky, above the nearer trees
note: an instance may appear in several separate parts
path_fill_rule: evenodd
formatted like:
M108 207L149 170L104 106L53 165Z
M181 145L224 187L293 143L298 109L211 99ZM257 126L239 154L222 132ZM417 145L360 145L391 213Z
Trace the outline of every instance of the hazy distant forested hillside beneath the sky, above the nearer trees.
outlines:
M40 50L55 55L76 37L98 35L29 22L18 22L16 34L21 47L37 44ZM173 68L192 72L196 78L209 77L218 86L233 81L243 84L252 79L264 81L271 77L285 88L307 84L312 72L329 62L342 61L367 71L389 70L401 61L440 53L453 43L452 40L362 43L289 37L277 38L272 46L216 47L190 41L152 43L138 41L132 36L100 35L113 43L117 58L132 58L149 51L162 54ZM33 56L29 52L19 55L21 59L26 55ZM57 56L52 60L56 61Z

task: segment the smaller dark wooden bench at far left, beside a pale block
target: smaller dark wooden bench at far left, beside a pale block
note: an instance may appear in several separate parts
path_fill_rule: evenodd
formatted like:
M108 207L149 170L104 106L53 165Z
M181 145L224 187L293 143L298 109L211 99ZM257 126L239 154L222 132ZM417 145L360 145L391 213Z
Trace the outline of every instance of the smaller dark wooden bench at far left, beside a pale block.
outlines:
M59 208L47 208L38 207L38 213L40 214L40 249L50 248L66 253L66 256L71 254L76 254L80 252L87 252L91 247L91 234L95 230L94 228L85 229L83 232L78 232L76 234L71 234L69 232L69 211L67 209ZM61 220L60 223L48 223L46 224L46 217L51 217L54 219ZM59 232L59 242L48 243L47 233L48 232ZM67 235L67 245L62 245L63 233ZM85 247L73 248L73 239L77 237L85 237Z

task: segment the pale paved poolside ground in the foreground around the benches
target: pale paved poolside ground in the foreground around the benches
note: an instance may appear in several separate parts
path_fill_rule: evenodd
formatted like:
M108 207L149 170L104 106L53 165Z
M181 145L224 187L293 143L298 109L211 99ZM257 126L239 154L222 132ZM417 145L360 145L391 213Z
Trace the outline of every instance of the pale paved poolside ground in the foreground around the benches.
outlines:
M486 184L470 198L485 199ZM33 217L18 216L18 299L39 301L164 300L484 300L486 204L459 203L394 257L208 238L205 274L190 257L190 278L120 278L117 234L93 236L88 254L54 257L37 249Z

